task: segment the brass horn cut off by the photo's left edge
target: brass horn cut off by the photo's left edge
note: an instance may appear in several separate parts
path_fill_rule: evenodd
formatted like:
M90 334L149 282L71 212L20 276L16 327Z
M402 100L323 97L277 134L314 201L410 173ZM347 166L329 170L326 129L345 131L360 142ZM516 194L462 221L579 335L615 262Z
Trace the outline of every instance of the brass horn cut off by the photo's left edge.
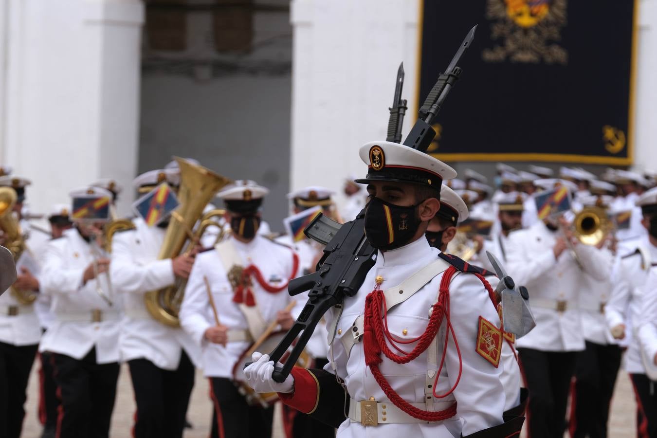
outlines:
M12 211L14 204L16 204L16 190L11 187L0 187L0 229L2 229L5 239L3 245L14 255L14 261L18 261L26 246L20 225ZM11 294L22 305L30 305L37 299L34 292L19 290L14 286L11 286Z

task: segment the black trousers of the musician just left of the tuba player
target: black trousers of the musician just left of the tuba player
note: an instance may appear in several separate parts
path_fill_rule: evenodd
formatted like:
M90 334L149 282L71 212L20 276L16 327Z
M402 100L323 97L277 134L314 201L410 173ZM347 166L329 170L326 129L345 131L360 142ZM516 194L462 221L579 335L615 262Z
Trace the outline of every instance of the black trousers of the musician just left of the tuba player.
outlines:
M98 364L96 347L82 359L53 353L53 364L61 401L57 438L107 438L119 364Z

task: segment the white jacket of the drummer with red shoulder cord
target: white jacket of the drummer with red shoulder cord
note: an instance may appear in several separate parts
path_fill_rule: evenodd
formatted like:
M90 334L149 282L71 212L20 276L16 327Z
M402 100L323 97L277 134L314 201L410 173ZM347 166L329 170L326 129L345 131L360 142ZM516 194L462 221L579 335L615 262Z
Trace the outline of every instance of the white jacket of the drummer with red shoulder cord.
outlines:
M271 242L260 235L248 243L240 242L231 236L225 244L233 245L235 252L242 259L242 267L256 265L265 281L272 286L280 287L294 275L292 272L294 252L291 248ZM217 247L221 248L221 246ZM219 323L227 326L229 330L248 330L244 314L233 302L233 286L228 280L230 269L231 267L223 266L217 249L198 254L181 306L181 324L194 339L194 343L202 347L202 368L205 376L208 377L233 378L233 367L252 343L240 340L229 342L224 347L209 342L204 336L208 328L215 326L204 277L210 282ZM293 299L289 296L287 288L281 292L270 293L255 279L252 291L258 311L267 324L275 320L277 312L282 311ZM302 304L305 304L305 301ZM256 336L260 335L254 335Z

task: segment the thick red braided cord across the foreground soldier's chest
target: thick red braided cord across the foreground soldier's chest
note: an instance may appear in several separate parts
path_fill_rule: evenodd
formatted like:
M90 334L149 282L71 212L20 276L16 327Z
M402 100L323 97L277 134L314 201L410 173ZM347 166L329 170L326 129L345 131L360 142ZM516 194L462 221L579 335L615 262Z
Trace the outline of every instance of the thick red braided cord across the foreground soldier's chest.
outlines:
M445 303L445 299L449 297L449 282L455 273L456 269L454 267L449 267L447 271L443 273L438 302L434 305L434 311L429 318L429 324L422 336L420 336L419 342L413 351L405 356L396 355L386 344L381 318L381 304L384 300L384 298L382 298L383 292L377 286L377 288L375 288L365 299L365 321L363 327L363 351L365 352L365 363L369 366L372 375L374 376L374 380L376 380L376 383L378 383L379 387L386 394L386 397L388 397L392 404L413 418L422 421L438 422L455 416L457 412L456 402L449 406L449 408L440 411L422 410L411 405L399 396L399 394L390 386L388 380L386 380L383 374L381 374L381 371L378 368L378 364L382 362L380 354L381 351L383 351L386 357L391 361L398 364L405 364L417 359L417 357L428 348L430 343L436 337L436 334L438 334L440 324L442 324L443 316L445 315L445 307L443 303ZM443 351L443 360L444 354Z

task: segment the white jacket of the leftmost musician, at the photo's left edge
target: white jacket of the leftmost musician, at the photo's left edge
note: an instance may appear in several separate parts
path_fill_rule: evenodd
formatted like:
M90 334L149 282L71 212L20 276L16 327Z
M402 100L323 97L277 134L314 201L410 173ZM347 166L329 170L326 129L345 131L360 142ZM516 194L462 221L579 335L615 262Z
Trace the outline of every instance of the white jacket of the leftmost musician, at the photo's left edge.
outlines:
M29 227L27 221L20 221L22 229ZM39 240L40 236L26 241L26 250L24 257L30 257L33 260L30 265L38 263L39 248L41 242L36 245L32 244L34 240ZM16 269L20 274L21 259L16 263ZM30 268L32 271L35 269ZM37 273L34 273L37 276ZM0 342L11 345L35 345L41 339L41 328L39 327L39 318L34 310L34 303L30 305L20 304L11 293L11 288L7 289L0 296Z

